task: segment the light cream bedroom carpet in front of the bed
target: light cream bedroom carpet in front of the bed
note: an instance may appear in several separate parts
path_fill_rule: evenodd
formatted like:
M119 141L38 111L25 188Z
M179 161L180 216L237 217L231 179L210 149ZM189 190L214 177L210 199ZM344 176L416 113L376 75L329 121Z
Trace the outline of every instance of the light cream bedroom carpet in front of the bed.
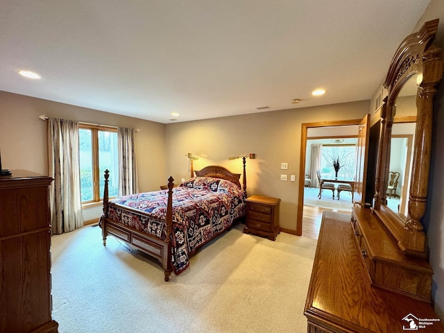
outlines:
M187 271L164 274L99 227L52 237L53 318L72 332L307 332L303 315L316 240L276 241L236 225Z

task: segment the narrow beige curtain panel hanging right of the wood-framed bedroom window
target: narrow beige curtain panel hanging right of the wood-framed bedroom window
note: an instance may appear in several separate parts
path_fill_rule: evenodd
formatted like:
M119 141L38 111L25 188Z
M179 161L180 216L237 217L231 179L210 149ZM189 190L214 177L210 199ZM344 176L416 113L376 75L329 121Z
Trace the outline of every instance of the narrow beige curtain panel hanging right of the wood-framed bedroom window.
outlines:
M117 129L119 142L119 196L135 194L137 186L137 169L135 162L134 128Z

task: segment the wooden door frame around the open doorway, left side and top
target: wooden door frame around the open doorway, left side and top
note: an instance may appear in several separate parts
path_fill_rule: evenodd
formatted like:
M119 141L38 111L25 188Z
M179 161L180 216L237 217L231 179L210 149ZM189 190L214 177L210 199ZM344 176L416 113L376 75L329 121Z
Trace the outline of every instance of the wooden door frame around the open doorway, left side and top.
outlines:
M307 155L307 130L308 128L352 126L359 125L362 119L319 121L316 123L302 123L300 130L300 165L299 165L299 189L298 189L298 216L296 218L296 234L302 236L302 216L304 214L304 180L305 156Z

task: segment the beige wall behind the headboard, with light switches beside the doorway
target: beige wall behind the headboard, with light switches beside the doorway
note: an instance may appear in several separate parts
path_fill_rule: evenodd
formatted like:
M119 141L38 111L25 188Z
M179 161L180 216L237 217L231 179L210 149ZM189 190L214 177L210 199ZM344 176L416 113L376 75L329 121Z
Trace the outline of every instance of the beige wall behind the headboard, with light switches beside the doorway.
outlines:
M218 164L241 173L241 159L228 157L255 153L255 160L247 159L248 195L281 198L280 226L296 230L302 123L359 119L368 110L369 101L358 101L168 124L167 171L176 180L188 178L185 155L193 153L199 157L196 170ZM280 169L281 162L288 163L288 170ZM288 175L286 182L280 180L281 173ZM296 175L296 182L290 175Z

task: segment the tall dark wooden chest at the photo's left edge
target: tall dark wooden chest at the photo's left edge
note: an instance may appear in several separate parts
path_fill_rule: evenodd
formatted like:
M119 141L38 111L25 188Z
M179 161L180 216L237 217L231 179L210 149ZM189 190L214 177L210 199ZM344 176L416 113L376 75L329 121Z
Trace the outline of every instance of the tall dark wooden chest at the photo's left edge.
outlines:
M51 318L52 178L0 176L0 332L58 332Z

